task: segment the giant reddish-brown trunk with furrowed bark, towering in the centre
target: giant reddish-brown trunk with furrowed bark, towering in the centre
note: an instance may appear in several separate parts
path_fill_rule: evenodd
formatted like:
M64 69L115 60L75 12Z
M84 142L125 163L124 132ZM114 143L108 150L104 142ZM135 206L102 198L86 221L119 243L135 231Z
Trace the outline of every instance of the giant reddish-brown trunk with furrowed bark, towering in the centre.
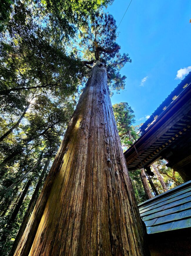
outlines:
M97 61L15 255L143 255L143 250L107 73Z

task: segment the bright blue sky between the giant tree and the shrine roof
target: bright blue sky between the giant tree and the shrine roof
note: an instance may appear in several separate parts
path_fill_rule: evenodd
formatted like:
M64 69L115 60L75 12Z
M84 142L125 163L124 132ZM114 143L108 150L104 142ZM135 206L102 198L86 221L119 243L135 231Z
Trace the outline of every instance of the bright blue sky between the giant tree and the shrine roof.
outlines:
M130 0L115 0L107 11L120 23ZM128 102L135 112L135 124L162 103L191 70L191 1L133 0L121 22L118 44L129 53L121 74L127 76L125 90L114 93L112 104ZM184 72L185 71L185 72ZM143 79L143 80L142 80ZM142 81L142 82L141 82Z

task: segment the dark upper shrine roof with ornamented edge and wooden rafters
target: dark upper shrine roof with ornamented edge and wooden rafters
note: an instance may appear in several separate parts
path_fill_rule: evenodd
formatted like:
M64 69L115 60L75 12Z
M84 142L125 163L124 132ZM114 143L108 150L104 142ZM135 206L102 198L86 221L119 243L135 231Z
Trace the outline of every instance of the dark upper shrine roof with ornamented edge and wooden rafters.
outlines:
M168 148L191 137L191 72L140 129L141 136L124 152L129 170L150 166Z

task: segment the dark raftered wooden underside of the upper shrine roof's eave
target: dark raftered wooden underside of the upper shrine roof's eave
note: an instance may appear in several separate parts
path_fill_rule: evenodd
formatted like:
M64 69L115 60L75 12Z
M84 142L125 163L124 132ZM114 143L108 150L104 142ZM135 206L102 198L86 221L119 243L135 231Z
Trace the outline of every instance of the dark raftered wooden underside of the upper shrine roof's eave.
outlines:
M191 81L191 73L182 80L182 84L185 84L185 81L187 82L188 78ZM185 117L189 111L191 111L190 83L182 89L182 93L158 116L156 120L154 120L152 125L150 125L145 130L145 133L143 133L134 143L144 166L150 166L152 162L160 158L160 150L164 150L165 147L169 146L172 140L177 139L177 136L184 133L185 129L186 131L189 129L189 125L187 125L189 120L186 120L186 123L183 123L183 126L179 125L179 122L181 118ZM180 131L176 128L180 128ZM141 168L140 160L133 145L124 152L124 155L129 170Z

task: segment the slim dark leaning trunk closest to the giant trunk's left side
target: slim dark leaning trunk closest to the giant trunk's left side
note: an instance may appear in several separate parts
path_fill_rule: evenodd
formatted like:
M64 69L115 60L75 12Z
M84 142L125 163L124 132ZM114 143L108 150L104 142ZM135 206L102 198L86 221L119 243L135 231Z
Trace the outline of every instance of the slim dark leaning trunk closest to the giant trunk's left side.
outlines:
M37 184L36 184L36 188L35 188L35 190L34 190L34 193L33 193L33 195L32 195L32 198L31 198L31 200L30 200L30 203L29 203L29 206L28 206L28 208L27 208L27 210L26 210L26 213L25 213L25 215L24 215L22 224L21 224L21 226L20 226L20 228L19 228L18 234L17 234L17 236L16 236L16 238L15 238L15 241L14 241L14 243L13 243L13 246L12 246L12 248L11 248L11 252L10 252L9 256L14 255L15 250L16 250L18 244L19 244L19 241L21 240L21 237L22 237L22 235L23 235L23 233L24 233L24 231L25 231L25 228L26 228L27 222L28 222L28 220L29 220L31 211L33 210L33 206L34 206L35 201L36 201L36 198L37 198L37 196L38 196L38 191L39 191L39 189L40 189L40 187L41 187L41 184L42 184L42 182L43 182L43 179L44 179L44 177L45 177L45 175L46 175L46 171L47 171L49 162L50 162L50 157L49 157L49 159L47 159L46 164L45 164L45 166L44 166L44 168L43 168L43 171L42 171L42 173L41 173L41 175L40 175L40 177L39 177L39 179L38 179L38 182L37 182Z

